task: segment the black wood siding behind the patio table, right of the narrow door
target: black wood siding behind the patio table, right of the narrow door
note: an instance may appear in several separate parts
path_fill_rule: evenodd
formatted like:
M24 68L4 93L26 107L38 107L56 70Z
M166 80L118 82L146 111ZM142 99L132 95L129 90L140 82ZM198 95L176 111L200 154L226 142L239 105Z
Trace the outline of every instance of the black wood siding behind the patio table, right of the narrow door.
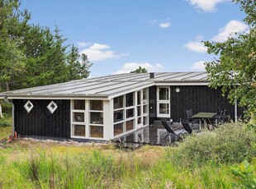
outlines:
M177 87L180 89L179 93L175 91ZM178 122L179 118L186 118L186 109L190 108L193 113L220 113L220 110L226 109L226 115L235 119L235 106L221 95L220 89L214 90L207 86L170 86L170 96L173 122ZM238 108L238 116L242 113L243 108Z

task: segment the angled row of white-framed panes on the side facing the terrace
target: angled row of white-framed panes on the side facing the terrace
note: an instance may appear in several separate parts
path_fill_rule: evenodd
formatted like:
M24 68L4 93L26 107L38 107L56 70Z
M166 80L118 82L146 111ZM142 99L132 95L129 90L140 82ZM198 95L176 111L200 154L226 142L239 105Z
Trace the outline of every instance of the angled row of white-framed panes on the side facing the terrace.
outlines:
M113 102L114 136L148 125L148 89L118 96Z

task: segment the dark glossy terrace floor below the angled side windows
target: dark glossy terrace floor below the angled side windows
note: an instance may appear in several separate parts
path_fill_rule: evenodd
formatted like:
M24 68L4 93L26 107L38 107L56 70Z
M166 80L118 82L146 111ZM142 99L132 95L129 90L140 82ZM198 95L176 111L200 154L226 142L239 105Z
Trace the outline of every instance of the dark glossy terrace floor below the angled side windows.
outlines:
M170 125L173 130L183 129L183 126L179 122L173 122ZM159 121L155 121L154 124L148 127L143 127L137 131L133 131L125 136L120 136L112 140L116 143L117 147L135 149L141 145L170 145L168 139L164 140L164 137L168 135L168 131Z

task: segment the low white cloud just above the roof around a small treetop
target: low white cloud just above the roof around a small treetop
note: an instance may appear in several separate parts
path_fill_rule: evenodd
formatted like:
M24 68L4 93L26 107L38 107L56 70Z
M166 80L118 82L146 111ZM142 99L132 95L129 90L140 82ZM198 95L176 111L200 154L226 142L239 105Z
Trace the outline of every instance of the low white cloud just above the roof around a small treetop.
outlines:
M114 74L130 73L130 71L135 71L139 67L145 68L148 72L163 71L164 69L164 67L159 63L150 64L148 62L145 62L145 63L127 62L123 65L121 70L116 71Z

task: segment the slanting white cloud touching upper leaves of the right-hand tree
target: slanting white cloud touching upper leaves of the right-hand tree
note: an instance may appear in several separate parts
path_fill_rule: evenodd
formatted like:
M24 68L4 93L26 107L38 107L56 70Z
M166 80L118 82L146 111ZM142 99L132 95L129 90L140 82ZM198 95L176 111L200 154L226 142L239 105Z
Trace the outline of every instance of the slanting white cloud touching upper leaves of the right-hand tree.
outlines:
M220 29L220 33L211 40L216 42L224 42L230 35L234 36L235 32L244 32L248 29L249 25L245 25L241 21L229 21L223 28Z

